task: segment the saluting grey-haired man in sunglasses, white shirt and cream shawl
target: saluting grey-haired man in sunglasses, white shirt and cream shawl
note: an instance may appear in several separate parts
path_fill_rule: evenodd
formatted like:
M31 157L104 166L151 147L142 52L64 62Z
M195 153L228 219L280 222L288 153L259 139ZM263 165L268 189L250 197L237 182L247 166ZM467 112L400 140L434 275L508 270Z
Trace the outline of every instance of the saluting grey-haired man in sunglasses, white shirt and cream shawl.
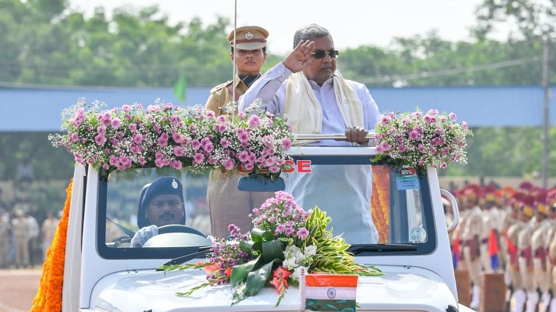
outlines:
M298 29L294 50L251 85L240 97L239 110L261 99L266 111L287 115L296 133L346 135L346 141L313 145L367 145L368 130L380 118L378 107L365 85L336 70L338 55L325 28L310 24ZM346 242L378 243L370 215L370 165L313 165L311 170L284 177L286 191L304 209L316 204L326 211L334 234L344 233Z

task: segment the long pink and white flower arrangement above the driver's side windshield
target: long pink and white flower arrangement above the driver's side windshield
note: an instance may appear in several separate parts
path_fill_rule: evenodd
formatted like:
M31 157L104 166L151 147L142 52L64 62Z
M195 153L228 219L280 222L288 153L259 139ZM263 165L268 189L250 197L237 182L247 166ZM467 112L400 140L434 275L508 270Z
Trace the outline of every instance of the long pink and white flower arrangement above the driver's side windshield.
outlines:
M272 120L260 110L260 101L235 118L160 99L146 109L141 104L111 110L105 106L78 99L62 111L62 133L48 139L54 147L72 152L77 162L106 170L171 166L201 172L235 170L237 164L256 175L275 177L290 158L286 151L291 147L291 127L286 119Z

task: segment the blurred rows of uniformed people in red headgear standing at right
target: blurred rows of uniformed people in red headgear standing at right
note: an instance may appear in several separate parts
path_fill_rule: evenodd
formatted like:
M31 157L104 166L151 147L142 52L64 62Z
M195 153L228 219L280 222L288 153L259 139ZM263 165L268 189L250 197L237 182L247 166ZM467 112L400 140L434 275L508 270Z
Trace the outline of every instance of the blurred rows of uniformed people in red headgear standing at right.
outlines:
M556 311L556 188L468 184L451 193L460 211L454 267L469 273L470 308L479 309L484 274L504 272L512 312Z

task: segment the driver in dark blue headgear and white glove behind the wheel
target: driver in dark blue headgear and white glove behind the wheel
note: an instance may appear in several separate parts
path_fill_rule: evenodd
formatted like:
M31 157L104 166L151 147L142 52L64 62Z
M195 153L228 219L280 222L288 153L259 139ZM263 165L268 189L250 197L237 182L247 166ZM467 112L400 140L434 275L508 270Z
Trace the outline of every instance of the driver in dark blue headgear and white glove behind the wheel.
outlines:
M142 247L158 235L159 227L185 225L183 202L183 187L175 177L160 177L143 187L137 212L139 231L131 239L131 247Z

